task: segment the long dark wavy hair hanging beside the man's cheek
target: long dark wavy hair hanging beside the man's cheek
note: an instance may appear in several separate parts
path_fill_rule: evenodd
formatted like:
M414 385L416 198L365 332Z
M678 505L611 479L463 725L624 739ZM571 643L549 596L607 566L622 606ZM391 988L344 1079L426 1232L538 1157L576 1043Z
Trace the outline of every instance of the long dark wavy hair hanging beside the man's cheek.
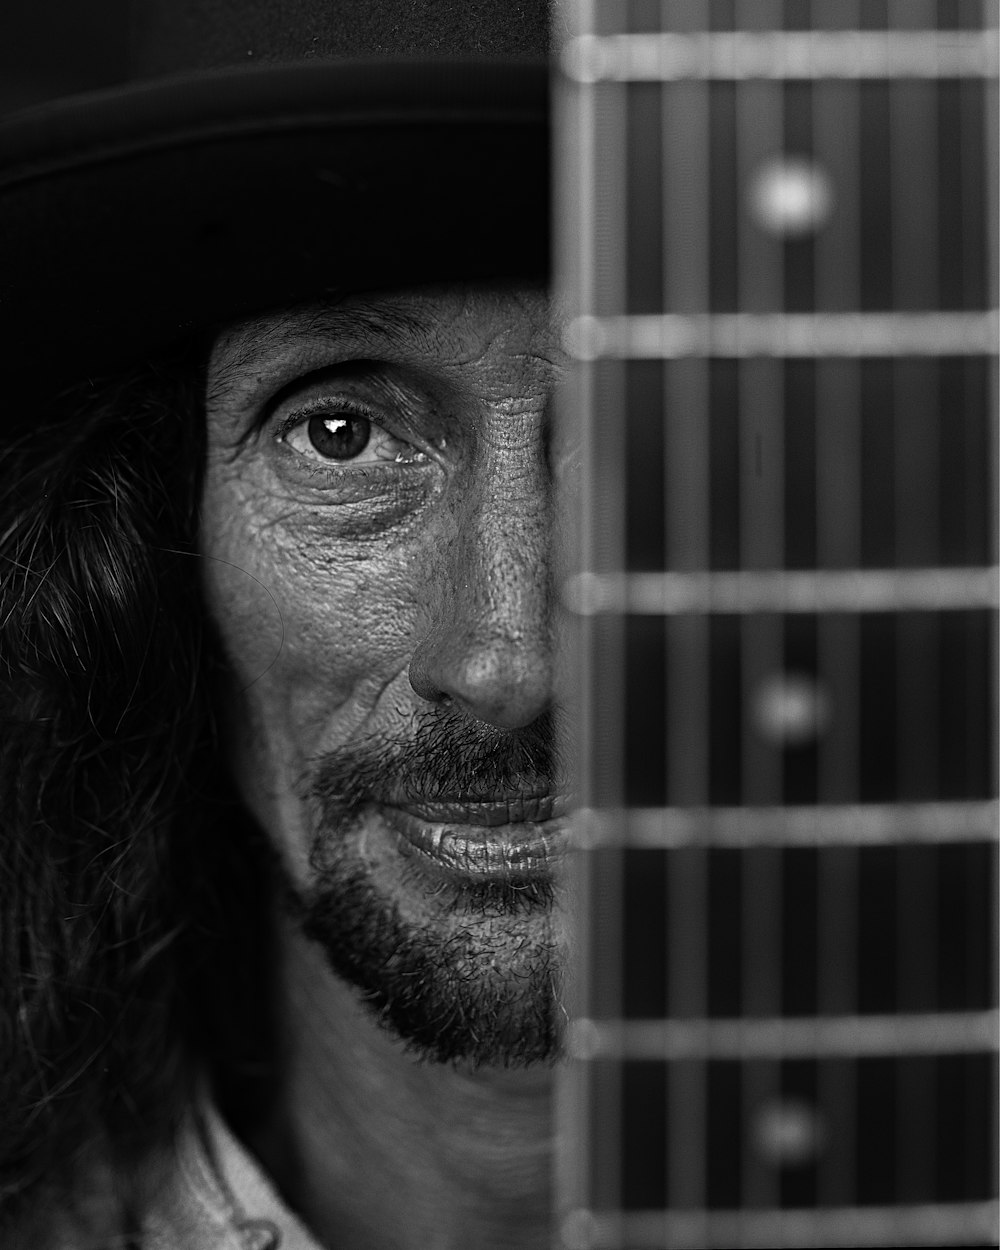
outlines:
M45 1244L32 1211L78 1221L80 1244L126 1238L215 1044L200 951L226 940L232 882L198 589L198 360L24 404L0 435L5 1246Z

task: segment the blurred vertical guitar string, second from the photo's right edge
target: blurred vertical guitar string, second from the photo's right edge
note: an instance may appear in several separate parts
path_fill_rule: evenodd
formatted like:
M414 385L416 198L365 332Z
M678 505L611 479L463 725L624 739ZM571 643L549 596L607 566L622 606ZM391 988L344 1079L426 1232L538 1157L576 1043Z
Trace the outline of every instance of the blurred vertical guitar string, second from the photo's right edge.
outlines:
M934 19L932 0L889 0L894 26ZM904 36L906 31L901 32ZM892 40L899 36L894 32ZM936 51L936 48L935 48ZM938 99L920 82L894 82L889 96L892 304L935 308L939 211ZM892 370L895 559L902 565L940 560L938 374L930 361L896 361ZM896 645L898 792L940 792L940 618L900 616ZM901 855L896 869L896 1006L931 1010L936 1000L938 900L928 856ZM895 1070L895 1178L899 1201L934 1192L938 1106L925 1064Z

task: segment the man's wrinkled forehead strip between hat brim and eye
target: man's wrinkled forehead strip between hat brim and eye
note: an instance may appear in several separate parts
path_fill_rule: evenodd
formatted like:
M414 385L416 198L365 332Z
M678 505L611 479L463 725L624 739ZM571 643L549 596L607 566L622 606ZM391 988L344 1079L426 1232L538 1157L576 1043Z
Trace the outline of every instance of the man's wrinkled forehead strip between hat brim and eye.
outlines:
M316 301L225 328L209 360L210 399L320 368L331 352L445 371L525 359L558 365L558 322L541 286L429 286Z

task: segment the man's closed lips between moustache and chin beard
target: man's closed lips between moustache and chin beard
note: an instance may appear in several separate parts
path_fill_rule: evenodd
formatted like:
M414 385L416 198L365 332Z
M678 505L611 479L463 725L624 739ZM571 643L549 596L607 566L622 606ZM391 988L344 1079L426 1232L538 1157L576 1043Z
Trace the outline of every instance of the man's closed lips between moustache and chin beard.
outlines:
M479 879L548 874L564 851L565 795L384 804L386 824L435 865Z

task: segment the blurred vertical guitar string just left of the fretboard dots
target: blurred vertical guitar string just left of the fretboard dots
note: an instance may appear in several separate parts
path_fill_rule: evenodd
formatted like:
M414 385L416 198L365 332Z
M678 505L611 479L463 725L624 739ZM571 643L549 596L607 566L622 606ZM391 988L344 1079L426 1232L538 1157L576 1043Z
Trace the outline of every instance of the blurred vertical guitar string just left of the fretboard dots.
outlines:
M741 29L782 25L780 0L736 0ZM755 220L749 206L754 180L784 152L784 89L745 80L731 89L735 111L736 298L750 312L784 311L780 238ZM779 360L741 360L738 370L739 560L741 569L781 568L784 552L785 431L784 370ZM739 622L740 801L781 802L784 768L779 742L768 735L755 708L784 670L785 625L779 616ZM758 724L755 724L755 719ZM782 851L756 848L740 862L740 1014L780 1015ZM780 1171L769 1158L768 1124L781 1109L781 1069L755 1059L740 1068L740 1189L748 1209L780 1205Z

